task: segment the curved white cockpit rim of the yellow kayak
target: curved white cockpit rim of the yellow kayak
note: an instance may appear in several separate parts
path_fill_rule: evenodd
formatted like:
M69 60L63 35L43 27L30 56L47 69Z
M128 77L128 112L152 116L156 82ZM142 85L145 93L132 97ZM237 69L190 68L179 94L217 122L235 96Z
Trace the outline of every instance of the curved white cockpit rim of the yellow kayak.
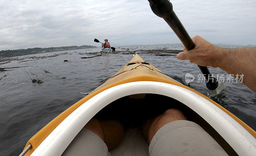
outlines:
M120 84L90 98L63 120L31 155L61 155L84 125L102 108L121 97L142 93L160 94L180 101L207 121L238 155L255 155L256 139L219 107L191 90L152 81Z

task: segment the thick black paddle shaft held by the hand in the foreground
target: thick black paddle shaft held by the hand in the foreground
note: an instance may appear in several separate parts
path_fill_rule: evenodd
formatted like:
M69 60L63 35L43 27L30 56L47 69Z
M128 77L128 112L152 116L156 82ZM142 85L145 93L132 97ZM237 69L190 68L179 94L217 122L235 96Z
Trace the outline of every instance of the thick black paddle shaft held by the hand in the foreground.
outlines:
M163 18L166 23L172 28L174 33L179 37L180 41L187 48L191 50L195 48L195 43L192 41L191 37L188 35L188 32L183 27L180 19L176 16L175 12L172 9L172 3L168 0L148 0L151 10L159 17ZM207 66L199 66L201 72L206 78L206 87L209 90L215 90L218 87L218 81L216 78L212 77ZM209 79L209 80L208 80Z

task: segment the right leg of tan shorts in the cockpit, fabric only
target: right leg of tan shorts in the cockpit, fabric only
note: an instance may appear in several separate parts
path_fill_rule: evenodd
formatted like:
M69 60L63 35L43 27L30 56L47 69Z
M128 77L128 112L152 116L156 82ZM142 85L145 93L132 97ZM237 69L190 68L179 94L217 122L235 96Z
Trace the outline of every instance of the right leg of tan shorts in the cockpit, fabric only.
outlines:
M198 124L172 121L161 127L149 145L150 156L228 156Z

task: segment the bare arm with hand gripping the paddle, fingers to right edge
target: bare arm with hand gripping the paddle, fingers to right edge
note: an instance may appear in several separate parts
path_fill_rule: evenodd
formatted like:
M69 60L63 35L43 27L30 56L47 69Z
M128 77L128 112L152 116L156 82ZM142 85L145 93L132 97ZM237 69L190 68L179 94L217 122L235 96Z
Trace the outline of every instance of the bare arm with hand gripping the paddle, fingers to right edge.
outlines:
M234 77L243 74L243 83L256 92L256 48L220 48L200 36L192 40L196 44L195 48L188 51L184 47L183 52L177 55L178 59L189 60L200 66L220 67L234 74Z

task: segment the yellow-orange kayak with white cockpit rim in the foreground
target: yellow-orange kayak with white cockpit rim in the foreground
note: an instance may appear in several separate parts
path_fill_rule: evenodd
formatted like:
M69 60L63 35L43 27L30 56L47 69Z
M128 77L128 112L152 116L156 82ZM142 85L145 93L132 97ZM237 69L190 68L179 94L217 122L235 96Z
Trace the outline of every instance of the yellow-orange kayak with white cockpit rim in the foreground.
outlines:
M228 155L255 155L256 132L252 128L210 98L164 74L138 54L106 82L38 131L28 140L23 153L26 156L61 155L92 117L115 116L115 112L122 110L124 113L118 115L131 127L126 130L121 145L116 147L121 149L114 148L110 153L132 155L126 151L140 148L133 155L147 155L145 149L148 145L139 135L139 128L134 128L134 116L140 116L145 109L154 113L169 106L182 108L189 114L188 119L204 128Z

